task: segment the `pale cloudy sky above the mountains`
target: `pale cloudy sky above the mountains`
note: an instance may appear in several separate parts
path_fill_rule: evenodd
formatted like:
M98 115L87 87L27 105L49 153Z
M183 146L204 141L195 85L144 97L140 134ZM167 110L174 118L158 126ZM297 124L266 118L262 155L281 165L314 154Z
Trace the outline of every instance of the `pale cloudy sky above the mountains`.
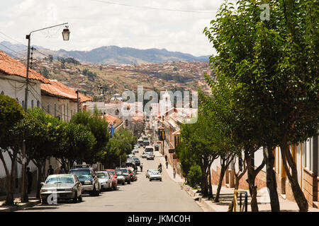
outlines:
M215 18L222 3L223 0L1 1L0 42L27 44L30 31L68 22L68 42L62 40L61 26L33 33L31 44L66 50L117 45L210 55L213 48L203 29Z

